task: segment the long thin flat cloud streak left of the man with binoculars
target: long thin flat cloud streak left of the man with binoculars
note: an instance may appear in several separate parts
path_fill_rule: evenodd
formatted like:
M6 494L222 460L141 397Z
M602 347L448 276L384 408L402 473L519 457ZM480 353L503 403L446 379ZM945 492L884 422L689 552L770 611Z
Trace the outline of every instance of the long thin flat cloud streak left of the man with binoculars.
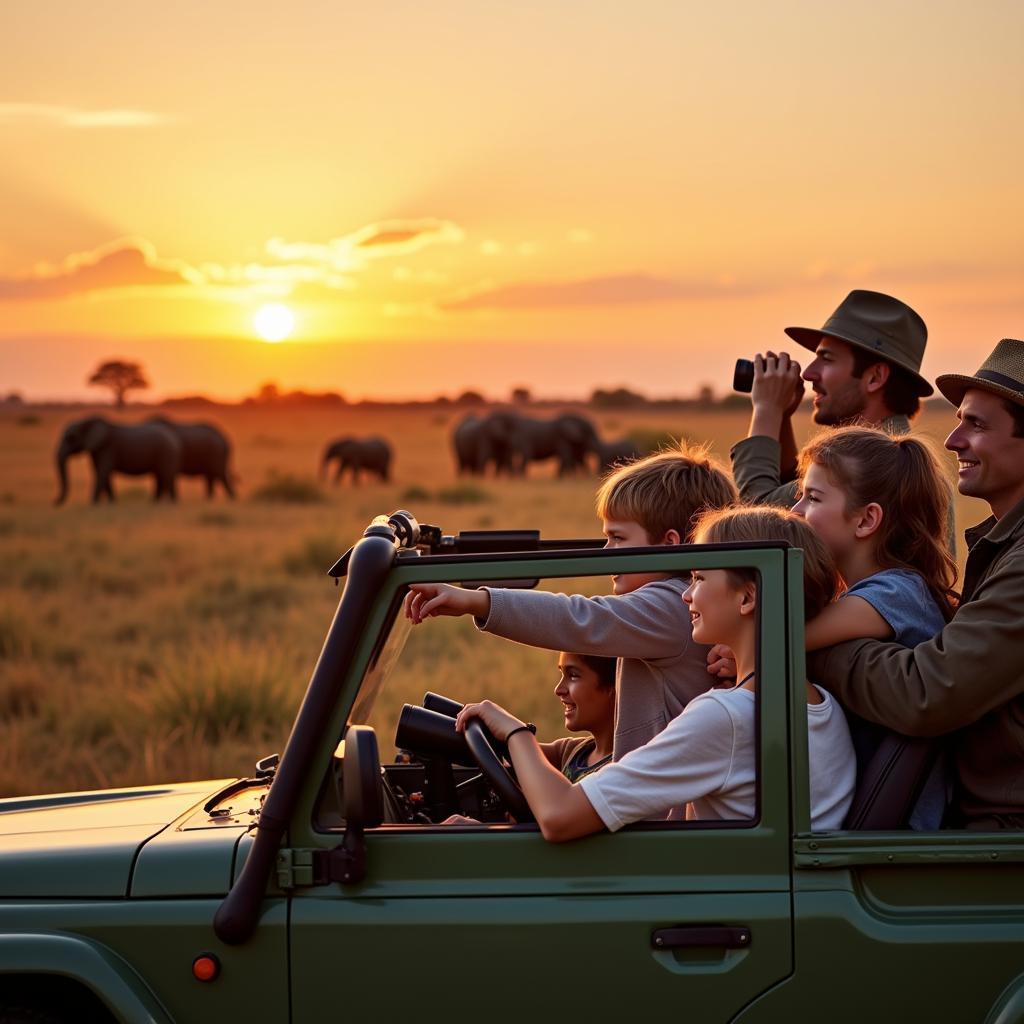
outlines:
M579 306L647 305L735 294L727 283L685 282L649 273L620 273L565 282L526 282L494 287L441 303L450 311L558 309Z

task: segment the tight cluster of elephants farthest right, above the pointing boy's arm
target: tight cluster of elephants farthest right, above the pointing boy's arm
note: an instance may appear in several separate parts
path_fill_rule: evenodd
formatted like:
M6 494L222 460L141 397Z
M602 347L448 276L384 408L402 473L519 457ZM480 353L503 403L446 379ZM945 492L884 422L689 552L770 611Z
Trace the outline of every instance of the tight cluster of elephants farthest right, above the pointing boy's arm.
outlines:
M550 420L498 410L487 416L465 417L452 434L456 468L460 475L525 475L531 462L556 460L559 476L590 469L596 458L598 472L642 453L629 438L604 441L597 428L579 413L563 413Z

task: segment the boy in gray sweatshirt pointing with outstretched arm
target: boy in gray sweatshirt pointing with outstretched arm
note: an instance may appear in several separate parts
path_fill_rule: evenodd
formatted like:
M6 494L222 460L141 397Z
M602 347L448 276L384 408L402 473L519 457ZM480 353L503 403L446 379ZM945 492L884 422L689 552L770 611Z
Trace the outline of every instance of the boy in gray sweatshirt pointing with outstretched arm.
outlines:
M597 493L606 547L684 544L706 509L736 502L736 489L707 452L685 445L621 466ZM451 584L414 584L406 614L473 615L481 630L546 647L618 658L613 760L660 732L712 685L708 647L691 637L683 603L688 580L668 572L611 578L607 597Z

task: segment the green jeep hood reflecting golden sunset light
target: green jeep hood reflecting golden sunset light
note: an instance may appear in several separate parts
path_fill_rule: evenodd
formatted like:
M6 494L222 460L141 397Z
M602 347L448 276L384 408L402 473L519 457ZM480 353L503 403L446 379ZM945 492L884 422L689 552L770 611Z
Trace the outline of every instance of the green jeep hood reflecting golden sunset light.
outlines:
M128 895L140 848L228 781L0 801L0 896Z

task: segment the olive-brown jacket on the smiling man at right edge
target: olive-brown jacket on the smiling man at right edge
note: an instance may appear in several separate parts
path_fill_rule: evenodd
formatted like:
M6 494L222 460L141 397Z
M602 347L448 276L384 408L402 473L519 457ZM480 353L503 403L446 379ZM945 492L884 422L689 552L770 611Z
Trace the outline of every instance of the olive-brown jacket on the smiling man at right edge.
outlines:
M966 822L1024 813L1024 501L966 532L964 596L914 648L853 640L808 658L811 678L871 722L909 736L955 733Z

